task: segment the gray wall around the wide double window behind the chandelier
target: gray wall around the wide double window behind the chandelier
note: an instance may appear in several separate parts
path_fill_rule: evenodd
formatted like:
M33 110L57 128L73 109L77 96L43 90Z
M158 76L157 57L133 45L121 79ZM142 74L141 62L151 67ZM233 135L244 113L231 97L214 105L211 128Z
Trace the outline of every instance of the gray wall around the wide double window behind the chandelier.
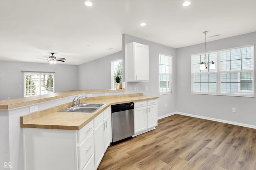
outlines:
M256 44L256 32L207 42L207 51L252 44ZM178 94L176 98L177 111L256 125L256 98L191 94L190 55L204 53L204 44L192 45L176 50L177 63L182 63L182 67L177 67L176 72L178 84L176 88ZM254 87L254 89L256 88ZM232 113L232 108L236 108L235 113Z

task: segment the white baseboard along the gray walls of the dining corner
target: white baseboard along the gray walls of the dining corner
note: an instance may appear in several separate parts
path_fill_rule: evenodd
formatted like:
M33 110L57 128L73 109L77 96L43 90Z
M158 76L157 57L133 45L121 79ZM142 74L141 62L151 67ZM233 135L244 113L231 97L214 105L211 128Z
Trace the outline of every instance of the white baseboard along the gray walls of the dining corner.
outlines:
M255 125L248 125L248 124L244 124L244 123L238 123L238 122L234 122L234 121L227 121L227 120L222 120L222 119L215 119L212 117L204 117L204 116L199 116L199 115L192 115L192 114L188 114L188 113L182 113L182 112L172 112L163 116L158 117L158 119L162 119L164 117L168 117L171 115L175 115L175 114L179 114L179 115L185 115L185 116L190 116L190 117L196 117L196 118L200 118L200 119L206 119L206 120L212 120L212 121L218 121L218 122L222 122L222 123L228 123L228 124L232 124L232 125L238 125L238 126L243 126L243 127L249 127L252 129L256 129Z

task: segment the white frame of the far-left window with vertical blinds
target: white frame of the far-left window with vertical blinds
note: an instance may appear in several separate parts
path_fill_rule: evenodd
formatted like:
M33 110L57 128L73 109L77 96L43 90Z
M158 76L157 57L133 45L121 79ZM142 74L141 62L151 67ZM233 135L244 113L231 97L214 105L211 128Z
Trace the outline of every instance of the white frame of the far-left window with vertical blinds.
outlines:
M42 85L41 85L41 83L42 83L42 75L43 74L51 74L52 78L53 78L53 92L52 93L55 93L55 72L40 72L40 71L22 71L22 72L23 72L23 96L24 97L30 97L30 96L26 96L26 75L28 75L28 74L39 74L39 78L38 78L38 82L39 82L38 86L39 86L39 88L40 87L42 88ZM44 95L44 94L41 94L41 91L42 90L39 90L39 94L31 95L31 96ZM48 94L52 94L52 93L48 93Z

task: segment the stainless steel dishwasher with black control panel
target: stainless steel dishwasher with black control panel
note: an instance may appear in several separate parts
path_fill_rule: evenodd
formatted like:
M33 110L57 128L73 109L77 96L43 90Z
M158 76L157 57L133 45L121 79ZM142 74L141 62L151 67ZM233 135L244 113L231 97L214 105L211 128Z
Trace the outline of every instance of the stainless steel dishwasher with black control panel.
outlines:
M134 135L134 104L116 104L112 109L112 142Z

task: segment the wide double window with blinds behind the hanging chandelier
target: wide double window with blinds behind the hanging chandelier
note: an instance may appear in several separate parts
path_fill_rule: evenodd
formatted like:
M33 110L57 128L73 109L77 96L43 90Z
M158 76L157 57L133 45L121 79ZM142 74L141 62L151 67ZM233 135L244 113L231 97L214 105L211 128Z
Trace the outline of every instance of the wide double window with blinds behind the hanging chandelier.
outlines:
M199 70L204 54L191 55L192 93L254 96L254 46L208 53L207 60L215 70Z

